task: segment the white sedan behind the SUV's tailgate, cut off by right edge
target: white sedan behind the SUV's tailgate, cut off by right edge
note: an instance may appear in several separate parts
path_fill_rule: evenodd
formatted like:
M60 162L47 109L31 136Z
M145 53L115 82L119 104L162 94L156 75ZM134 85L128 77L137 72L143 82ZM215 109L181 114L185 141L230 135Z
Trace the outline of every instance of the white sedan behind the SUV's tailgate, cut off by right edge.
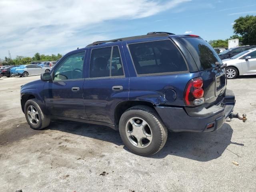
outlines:
M238 75L256 75L256 48L246 50L229 59L222 60L227 64L227 78L234 79Z

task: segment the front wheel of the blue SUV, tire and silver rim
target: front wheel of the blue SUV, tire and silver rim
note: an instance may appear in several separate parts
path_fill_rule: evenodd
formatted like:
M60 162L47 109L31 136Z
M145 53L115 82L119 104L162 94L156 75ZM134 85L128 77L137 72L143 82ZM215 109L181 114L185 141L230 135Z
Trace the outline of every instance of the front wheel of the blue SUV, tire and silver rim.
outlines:
M31 113L32 111L31 109L33 109L33 114ZM35 111L38 114L35 114L34 109L36 109ZM25 103L24 113L26 116L26 120L32 129L40 130L40 129L46 128L50 124L50 118L44 115L40 106L36 103L36 99L28 100ZM38 122L36 120L38 120Z

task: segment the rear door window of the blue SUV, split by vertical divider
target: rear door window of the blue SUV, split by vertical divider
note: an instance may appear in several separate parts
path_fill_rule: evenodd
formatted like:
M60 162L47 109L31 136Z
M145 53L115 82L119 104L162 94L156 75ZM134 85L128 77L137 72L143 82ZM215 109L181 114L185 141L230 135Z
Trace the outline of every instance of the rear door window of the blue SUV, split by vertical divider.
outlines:
M118 46L92 49L90 78L123 75L122 60Z

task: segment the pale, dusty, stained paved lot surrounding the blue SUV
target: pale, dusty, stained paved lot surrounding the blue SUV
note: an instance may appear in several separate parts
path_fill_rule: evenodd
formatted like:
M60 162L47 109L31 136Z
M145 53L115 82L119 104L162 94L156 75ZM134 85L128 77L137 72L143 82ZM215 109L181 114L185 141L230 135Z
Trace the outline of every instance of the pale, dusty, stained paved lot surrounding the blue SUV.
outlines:
M104 126L55 121L44 130L29 128L20 85L39 78L0 78L1 192L256 190L256 76L228 80L234 111L245 112L246 123L169 133L166 146L149 158L130 153L118 132Z

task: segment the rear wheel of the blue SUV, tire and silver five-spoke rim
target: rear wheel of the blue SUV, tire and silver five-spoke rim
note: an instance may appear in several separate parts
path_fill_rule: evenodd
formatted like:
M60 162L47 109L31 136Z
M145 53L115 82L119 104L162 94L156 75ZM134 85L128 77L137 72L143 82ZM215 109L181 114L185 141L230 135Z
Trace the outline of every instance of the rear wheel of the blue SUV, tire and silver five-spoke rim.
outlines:
M167 129L159 116L154 109L143 105L131 107L122 114L119 132L125 146L141 156L156 154L163 148L167 140ZM138 140L141 142L139 143Z

